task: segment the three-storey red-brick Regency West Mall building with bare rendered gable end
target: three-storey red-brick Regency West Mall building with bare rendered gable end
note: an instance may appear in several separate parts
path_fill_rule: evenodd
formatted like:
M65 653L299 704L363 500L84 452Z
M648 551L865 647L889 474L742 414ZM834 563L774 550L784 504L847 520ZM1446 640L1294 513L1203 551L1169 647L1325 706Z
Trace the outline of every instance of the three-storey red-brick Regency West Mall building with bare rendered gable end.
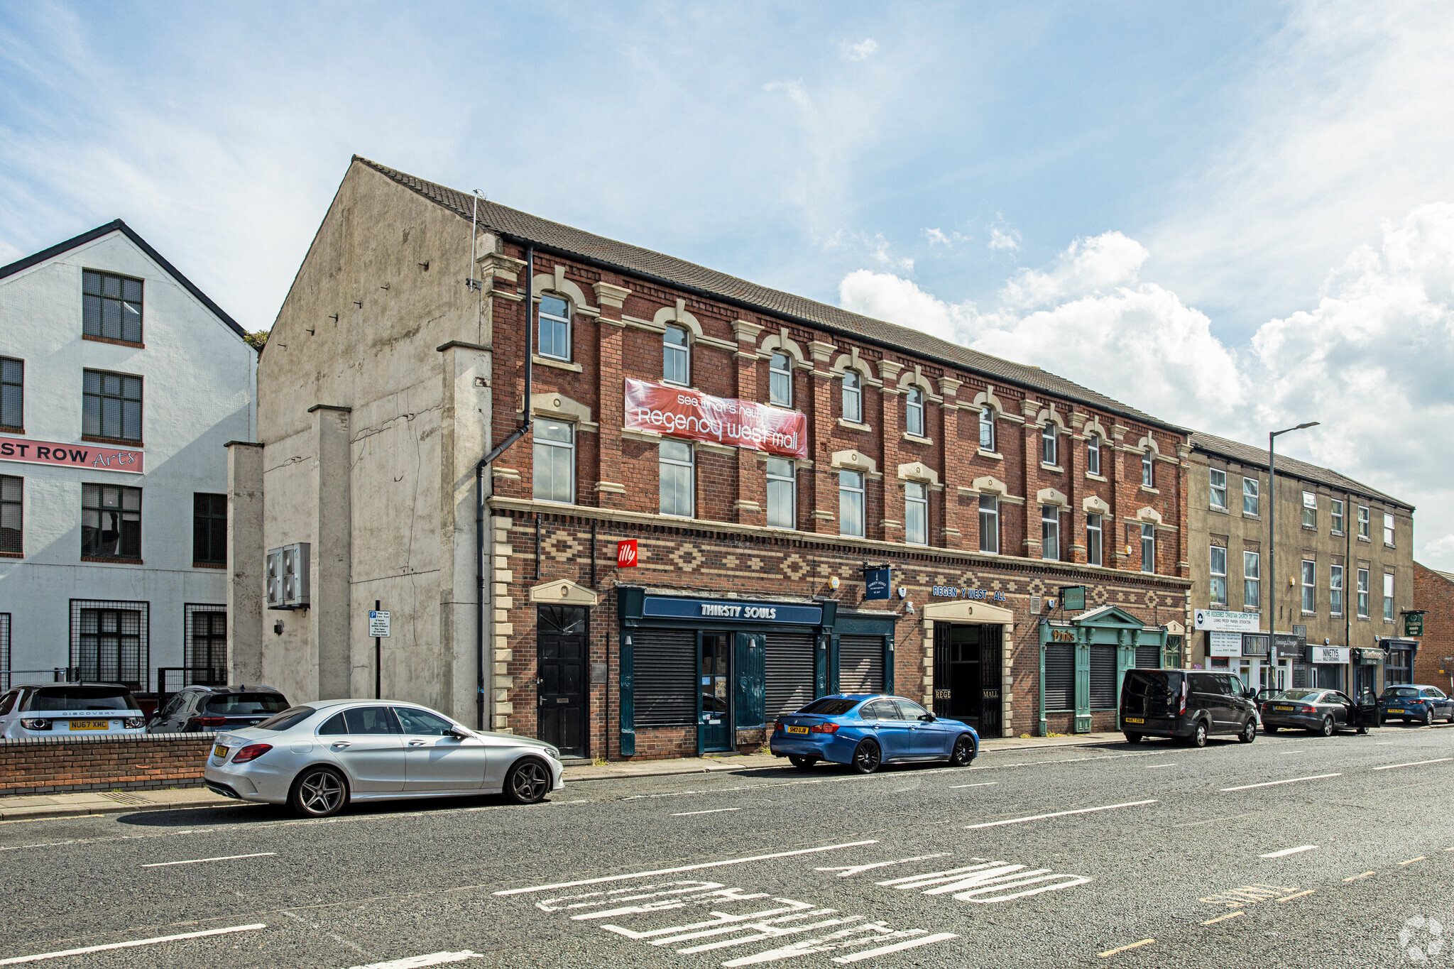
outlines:
M1114 728L1120 673L1184 658L1182 429L362 158L259 397L233 482L256 622L233 633L289 696L378 677L567 754L648 757L756 747L836 690L995 735ZM265 552L300 542L311 603L269 612ZM884 565L891 597L867 599Z

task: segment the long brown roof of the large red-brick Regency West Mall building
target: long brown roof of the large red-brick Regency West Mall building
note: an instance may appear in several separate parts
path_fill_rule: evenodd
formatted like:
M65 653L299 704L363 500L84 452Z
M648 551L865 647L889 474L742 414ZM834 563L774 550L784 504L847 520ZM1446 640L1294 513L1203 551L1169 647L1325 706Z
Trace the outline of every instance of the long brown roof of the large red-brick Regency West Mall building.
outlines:
M464 219L471 216L474 206L473 195L426 182L425 179L397 171L359 155L353 155L353 160L382 173L398 185L413 189ZM931 337L910 327L864 317L839 307L817 302L816 299L759 286L758 283L728 276L715 269L707 269L705 266L664 256L648 248L641 248L640 246L618 243L603 235L551 222L550 219L542 219L497 202L480 202L480 224L512 241L534 243L539 248L569 259L595 263L615 272L698 292L704 296L737 304L763 314L801 321L811 327L838 331L883 347L929 357L951 368L971 370L992 384L1015 384L1031 392L1051 394L1112 414L1121 414L1143 424L1186 433L1182 427L1144 414L1134 407L1121 404L1104 394L1041 370L1040 368L980 353L979 350L971 350L948 340Z

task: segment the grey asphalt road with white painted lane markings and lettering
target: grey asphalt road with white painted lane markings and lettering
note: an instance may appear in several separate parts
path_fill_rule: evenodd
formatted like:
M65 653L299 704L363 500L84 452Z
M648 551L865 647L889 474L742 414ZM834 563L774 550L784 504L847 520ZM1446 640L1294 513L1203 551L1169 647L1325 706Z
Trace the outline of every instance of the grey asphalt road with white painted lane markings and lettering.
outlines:
M17 821L0 966L1451 965L1451 784L1390 725Z

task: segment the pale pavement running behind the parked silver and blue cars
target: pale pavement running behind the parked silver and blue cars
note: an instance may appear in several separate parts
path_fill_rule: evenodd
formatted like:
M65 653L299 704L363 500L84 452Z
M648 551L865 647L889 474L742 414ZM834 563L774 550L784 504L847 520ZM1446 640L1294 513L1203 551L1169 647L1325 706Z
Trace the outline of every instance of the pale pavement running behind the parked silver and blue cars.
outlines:
M1120 742L1120 734L1076 734L1075 737L1005 737L981 744L983 754L1047 747L1082 747ZM721 754L670 760L611 761L605 764L567 763L566 783L586 780L622 780L630 777L667 777L721 771L782 767L772 754ZM19 795L0 798L0 821L28 818L73 818L138 811L174 811L179 808L236 808L238 802L214 795L206 787L170 787L164 790L90 790L60 795Z

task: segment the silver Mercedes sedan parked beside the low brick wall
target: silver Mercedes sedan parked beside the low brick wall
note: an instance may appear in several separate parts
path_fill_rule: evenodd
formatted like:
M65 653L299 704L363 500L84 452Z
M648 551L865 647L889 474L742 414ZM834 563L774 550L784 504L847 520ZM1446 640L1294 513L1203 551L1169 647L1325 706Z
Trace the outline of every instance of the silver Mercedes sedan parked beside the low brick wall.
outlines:
M566 786L560 751L515 734L473 731L388 700L318 700L218 734L204 776L215 793L286 803L308 818L350 800L505 793L535 803Z

